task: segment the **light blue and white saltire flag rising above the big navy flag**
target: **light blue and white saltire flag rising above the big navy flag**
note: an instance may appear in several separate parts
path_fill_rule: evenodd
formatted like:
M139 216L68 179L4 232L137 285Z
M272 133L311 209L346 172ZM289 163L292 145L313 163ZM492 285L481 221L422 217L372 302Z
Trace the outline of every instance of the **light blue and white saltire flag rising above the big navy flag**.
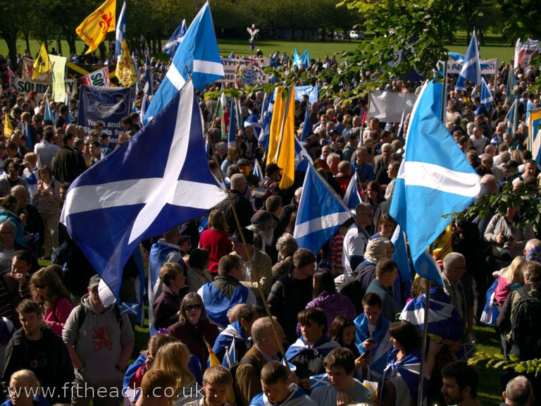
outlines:
M152 98L145 121L156 116L192 75L195 90L223 78L223 63L212 25L211 8L207 1L189 26L177 49L166 77Z

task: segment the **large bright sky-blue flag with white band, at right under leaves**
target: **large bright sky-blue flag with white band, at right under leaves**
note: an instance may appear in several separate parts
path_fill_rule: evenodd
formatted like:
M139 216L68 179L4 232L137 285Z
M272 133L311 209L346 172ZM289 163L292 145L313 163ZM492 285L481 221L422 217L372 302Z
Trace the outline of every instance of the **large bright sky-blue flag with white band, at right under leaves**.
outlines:
M416 260L481 194L480 178L440 121L443 85L428 81L419 94L406 139L390 215L409 239Z

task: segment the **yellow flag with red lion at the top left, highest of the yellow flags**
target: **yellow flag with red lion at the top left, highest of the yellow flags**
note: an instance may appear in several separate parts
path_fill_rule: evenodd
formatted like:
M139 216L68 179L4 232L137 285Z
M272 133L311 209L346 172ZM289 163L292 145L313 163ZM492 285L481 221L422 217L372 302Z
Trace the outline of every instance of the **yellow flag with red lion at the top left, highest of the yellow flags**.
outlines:
M77 35L88 46L86 54L96 51L107 32L115 30L115 13L116 0L106 0L75 29Z

